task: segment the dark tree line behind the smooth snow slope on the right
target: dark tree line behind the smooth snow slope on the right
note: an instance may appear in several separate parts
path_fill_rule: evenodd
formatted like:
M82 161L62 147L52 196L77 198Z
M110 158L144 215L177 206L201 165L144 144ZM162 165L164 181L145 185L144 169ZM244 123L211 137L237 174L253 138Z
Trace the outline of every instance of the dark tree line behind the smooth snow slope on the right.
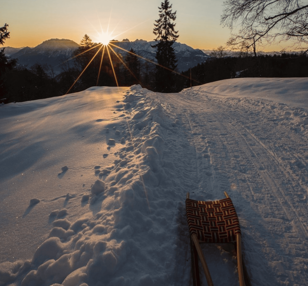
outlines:
M282 53L212 58L182 74L186 76L182 88L232 78L308 77L308 57L305 54Z

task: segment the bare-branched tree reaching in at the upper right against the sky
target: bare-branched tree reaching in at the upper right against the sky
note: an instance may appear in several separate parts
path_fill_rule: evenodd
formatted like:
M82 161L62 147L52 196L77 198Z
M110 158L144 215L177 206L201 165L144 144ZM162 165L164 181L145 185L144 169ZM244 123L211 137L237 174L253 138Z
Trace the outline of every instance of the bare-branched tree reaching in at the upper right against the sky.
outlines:
M228 44L238 49L253 49L262 39L292 39L298 46L308 44L308 5L299 0L226 0L221 22L241 29ZM306 50L306 52L308 49Z

